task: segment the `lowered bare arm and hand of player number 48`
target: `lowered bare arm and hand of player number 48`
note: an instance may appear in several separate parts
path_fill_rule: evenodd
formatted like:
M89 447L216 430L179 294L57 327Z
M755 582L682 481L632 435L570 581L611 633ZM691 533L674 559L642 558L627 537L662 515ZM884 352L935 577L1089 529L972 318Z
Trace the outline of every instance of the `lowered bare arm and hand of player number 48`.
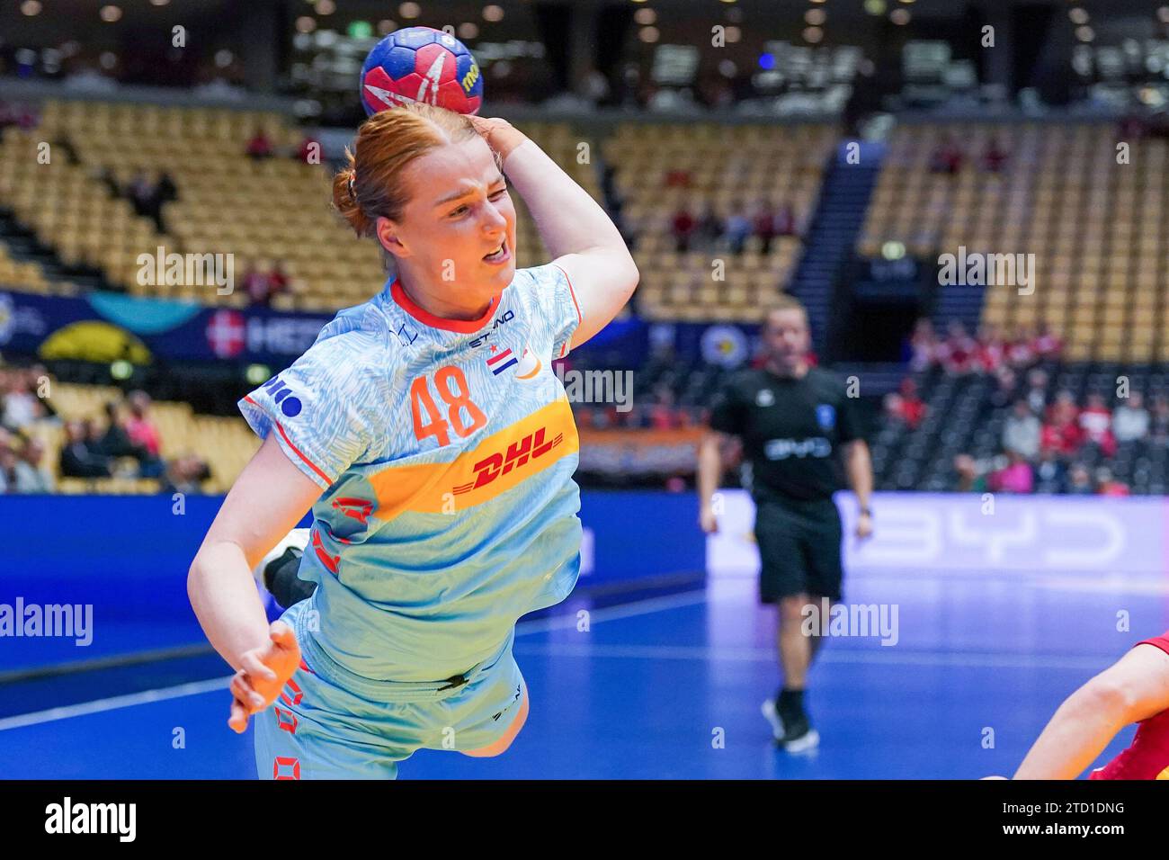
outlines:
M236 479L187 573L187 596L215 651L236 677L229 724L242 731L247 715L279 695L299 662L292 631L269 627L251 569L304 516L320 487L281 450L275 433Z

